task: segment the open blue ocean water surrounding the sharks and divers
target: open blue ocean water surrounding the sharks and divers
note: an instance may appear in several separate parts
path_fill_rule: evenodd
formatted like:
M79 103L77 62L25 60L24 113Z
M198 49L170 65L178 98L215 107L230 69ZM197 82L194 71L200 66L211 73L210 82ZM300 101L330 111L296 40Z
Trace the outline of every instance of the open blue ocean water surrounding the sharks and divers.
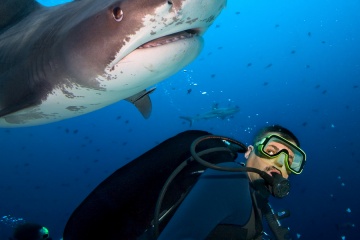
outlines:
M47 5L56 1L42 2ZM360 239L360 1L228 0L201 55L158 84L144 120L126 102L37 127L0 129L0 216L61 237L72 211L109 174L163 140L200 129L251 144L281 124L308 155L277 209L300 239ZM190 94L188 90L191 89ZM219 106L230 119L195 122ZM12 228L0 223L0 239Z

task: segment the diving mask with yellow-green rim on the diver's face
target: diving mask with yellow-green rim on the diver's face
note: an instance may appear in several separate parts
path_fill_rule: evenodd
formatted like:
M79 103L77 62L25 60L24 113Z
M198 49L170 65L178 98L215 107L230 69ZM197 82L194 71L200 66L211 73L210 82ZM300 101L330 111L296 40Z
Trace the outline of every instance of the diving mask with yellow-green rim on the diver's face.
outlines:
M285 164L287 170L300 174L306 162L306 154L301 148L278 135L269 135L255 144L261 157L274 159Z

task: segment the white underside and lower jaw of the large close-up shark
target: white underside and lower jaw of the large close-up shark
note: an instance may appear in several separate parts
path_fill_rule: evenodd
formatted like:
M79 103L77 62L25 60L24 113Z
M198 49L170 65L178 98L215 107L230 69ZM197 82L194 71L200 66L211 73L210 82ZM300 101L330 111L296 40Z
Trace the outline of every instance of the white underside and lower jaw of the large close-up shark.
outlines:
M200 37L139 49L98 76L100 89L58 86L41 104L0 118L0 127L25 127L80 116L128 98L179 71L200 53Z

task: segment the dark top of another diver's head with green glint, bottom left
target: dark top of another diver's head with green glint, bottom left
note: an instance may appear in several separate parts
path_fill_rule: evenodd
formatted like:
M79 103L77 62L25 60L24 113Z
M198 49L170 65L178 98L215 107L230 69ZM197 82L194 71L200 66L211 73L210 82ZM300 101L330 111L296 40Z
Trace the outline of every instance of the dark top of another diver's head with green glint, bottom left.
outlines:
M51 240L49 230L36 223L21 223L14 229L9 240Z

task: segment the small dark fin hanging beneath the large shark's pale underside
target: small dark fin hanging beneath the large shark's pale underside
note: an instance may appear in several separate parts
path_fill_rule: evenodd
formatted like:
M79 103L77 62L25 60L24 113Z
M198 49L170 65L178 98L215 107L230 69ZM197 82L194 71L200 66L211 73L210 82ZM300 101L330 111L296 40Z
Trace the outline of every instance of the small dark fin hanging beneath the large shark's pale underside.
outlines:
M149 94L155 91L156 88L150 90L143 90L125 100L131 102L140 111L144 118L149 118L152 110L151 100Z

